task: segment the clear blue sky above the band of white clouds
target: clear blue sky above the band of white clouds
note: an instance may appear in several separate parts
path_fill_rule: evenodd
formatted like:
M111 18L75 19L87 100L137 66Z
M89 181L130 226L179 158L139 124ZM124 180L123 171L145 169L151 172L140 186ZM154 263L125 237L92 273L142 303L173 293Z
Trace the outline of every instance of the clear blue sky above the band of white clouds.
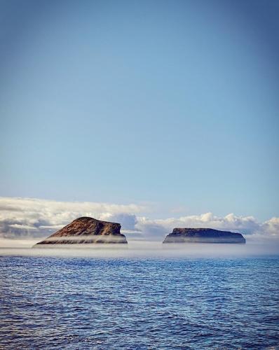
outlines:
M271 0L1 0L3 220L16 198L276 220L278 18Z

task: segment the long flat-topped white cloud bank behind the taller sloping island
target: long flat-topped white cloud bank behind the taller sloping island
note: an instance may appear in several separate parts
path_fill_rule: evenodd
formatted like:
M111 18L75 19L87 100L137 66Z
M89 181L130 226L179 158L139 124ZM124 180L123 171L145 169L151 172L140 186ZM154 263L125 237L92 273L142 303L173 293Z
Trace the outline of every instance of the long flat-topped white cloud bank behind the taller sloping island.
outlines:
M135 225L135 214L143 210L144 207L137 204L57 202L35 198L0 197L0 235L43 237L80 216L91 216L100 220L121 219L127 216L125 224L131 227L132 222Z

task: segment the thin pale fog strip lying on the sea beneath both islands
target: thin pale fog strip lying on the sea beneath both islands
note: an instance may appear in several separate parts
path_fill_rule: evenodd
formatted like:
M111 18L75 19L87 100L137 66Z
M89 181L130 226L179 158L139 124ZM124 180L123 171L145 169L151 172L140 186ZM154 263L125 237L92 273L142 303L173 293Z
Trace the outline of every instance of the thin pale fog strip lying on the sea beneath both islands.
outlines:
M55 244L35 247L39 239L1 239L0 255L92 258L226 258L279 255L278 241L247 239L246 244L162 244L129 240L128 244Z

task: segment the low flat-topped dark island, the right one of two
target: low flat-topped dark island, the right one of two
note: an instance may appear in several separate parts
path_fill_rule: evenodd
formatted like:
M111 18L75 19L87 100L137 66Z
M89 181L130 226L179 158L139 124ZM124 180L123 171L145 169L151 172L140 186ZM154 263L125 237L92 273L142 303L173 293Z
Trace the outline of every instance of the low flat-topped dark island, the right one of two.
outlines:
M174 228L163 243L246 243L240 233L212 228Z

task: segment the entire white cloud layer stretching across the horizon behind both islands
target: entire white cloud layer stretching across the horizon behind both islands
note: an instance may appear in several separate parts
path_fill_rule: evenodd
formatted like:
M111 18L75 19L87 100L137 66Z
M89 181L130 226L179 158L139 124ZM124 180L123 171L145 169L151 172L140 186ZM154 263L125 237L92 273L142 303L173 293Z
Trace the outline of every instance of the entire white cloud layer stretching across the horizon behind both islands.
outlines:
M121 223L129 239L161 241L173 228L216 228L241 232L250 237L277 237L279 218L260 223L252 216L206 213L180 218L150 219L147 207L137 204L57 202L34 198L0 197L0 237L47 237L80 216Z

